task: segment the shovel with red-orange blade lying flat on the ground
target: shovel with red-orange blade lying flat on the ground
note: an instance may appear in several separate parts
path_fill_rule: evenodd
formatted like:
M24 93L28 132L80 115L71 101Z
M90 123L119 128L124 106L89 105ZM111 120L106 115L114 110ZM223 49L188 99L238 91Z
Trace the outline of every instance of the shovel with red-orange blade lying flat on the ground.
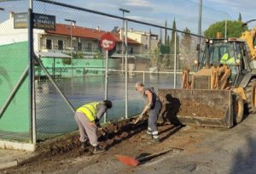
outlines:
M166 150L161 151L156 154L149 154L148 156L143 156L141 158L132 158L130 156L124 156L124 155L120 155L120 154L116 155L116 158L126 166L138 166L143 161L151 160L155 157L158 157L162 154L166 154L166 153L168 153L170 151L174 151L174 150L183 151L183 149L171 148L171 149L166 149Z

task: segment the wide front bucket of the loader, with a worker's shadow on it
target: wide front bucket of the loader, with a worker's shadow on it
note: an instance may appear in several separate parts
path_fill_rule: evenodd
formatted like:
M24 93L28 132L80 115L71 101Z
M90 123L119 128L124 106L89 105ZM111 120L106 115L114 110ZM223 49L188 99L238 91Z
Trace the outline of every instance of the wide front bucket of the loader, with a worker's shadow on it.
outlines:
M159 89L161 115L172 124L233 126L230 90Z

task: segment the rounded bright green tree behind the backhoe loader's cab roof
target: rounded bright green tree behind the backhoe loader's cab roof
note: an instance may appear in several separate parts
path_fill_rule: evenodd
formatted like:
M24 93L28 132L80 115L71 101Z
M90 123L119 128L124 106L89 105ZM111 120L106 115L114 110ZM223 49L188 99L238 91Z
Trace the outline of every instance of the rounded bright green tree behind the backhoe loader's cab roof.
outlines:
M243 31L247 31L247 26L242 26L241 21L227 21L227 37L240 37ZM224 36L225 20L210 25L209 28L205 31L205 36L208 38L216 38L217 32L221 32Z

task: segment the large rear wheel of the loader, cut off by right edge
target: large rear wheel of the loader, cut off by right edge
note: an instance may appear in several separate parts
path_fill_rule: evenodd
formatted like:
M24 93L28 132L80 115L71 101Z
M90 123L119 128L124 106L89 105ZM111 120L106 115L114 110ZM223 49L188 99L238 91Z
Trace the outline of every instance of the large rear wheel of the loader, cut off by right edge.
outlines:
M252 79L245 89L247 96L246 111L247 114L256 112L256 79Z

